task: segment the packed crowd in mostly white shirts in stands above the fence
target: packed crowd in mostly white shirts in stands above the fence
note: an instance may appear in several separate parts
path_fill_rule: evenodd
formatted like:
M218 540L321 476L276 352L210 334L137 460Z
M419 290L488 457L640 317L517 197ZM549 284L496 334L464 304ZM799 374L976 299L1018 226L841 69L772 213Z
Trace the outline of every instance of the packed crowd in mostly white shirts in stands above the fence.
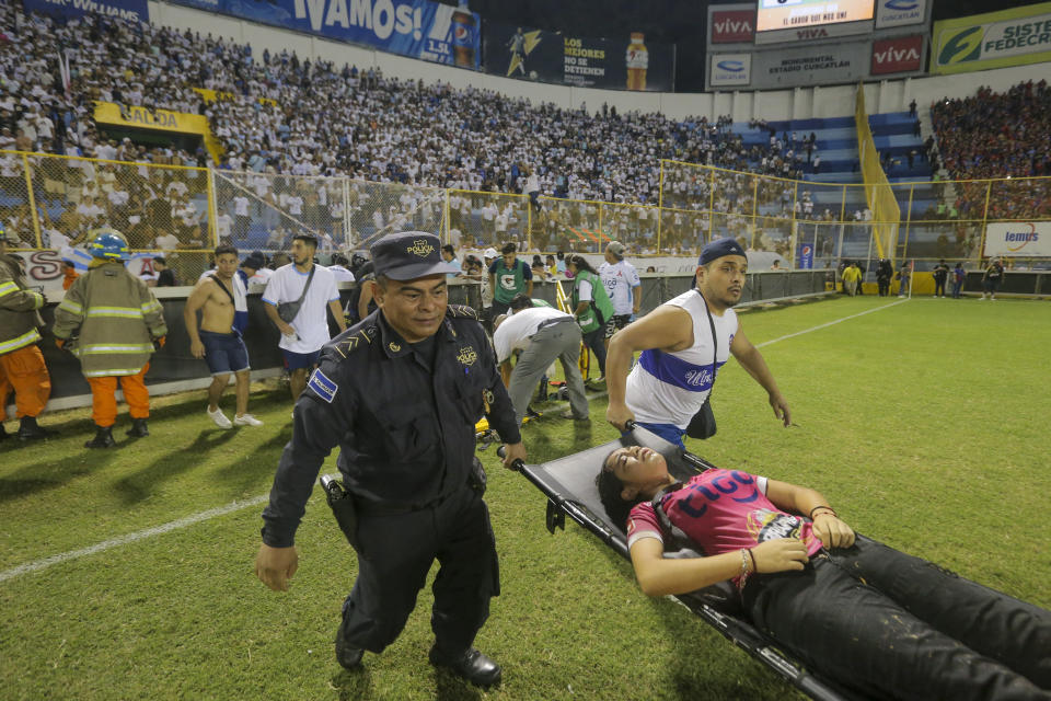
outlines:
M682 122L504 97L337 68L294 53L262 55L220 37L116 19L65 23L0 8L4 76L0 146L72 156L203 165L187 153L114 143L96 131L95 101L199 113L226 148L218 168L343 174L417 185L656 204L660 158L795 174L776 149L746 148L730 119ZM69 56L69 99L56 47ZM28 58L28 60L26 60ZM195 88L215 91L206 102ZM49 124L45 124L49 123ZM765 166L763 161L765 159Z

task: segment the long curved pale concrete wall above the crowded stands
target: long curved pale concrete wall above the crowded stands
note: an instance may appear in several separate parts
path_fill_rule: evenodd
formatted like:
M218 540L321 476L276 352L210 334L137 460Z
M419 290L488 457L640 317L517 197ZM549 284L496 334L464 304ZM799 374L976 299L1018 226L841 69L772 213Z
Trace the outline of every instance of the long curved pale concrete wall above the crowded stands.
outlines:
M194 10L183 5L151 0L150 21L177 30L200 32L204 36L223 36L239 44L251 44L256 55L264 48L270 53L294 50L301 58L344 62L359 69L379 68L384 76L420 79L425 83L447 82L454 88L474 87L493 90L509 97L528 97L533 104L552 102L561 107L576 110L586 105L594 111L608 103L619 112L659 112L670 118L690 115L714 118L729 114L736 122L751 118L808 119L812 117L846 116L854 114L854 85L796 88L792 90L711 92L711 93L649 93L623 90L597 90L533 83L499 76L487 76L462 68L386 54L383 51L342 44L328 39L277 30L234 18ZM776 49L772 49L776 50ZM867 83L866 104L873 114L908 110L915 97L925 104L937 97L967 97L981 85L1006 88L1035 76L1051 74L1051 62L1015 66L973 73L928 76Z

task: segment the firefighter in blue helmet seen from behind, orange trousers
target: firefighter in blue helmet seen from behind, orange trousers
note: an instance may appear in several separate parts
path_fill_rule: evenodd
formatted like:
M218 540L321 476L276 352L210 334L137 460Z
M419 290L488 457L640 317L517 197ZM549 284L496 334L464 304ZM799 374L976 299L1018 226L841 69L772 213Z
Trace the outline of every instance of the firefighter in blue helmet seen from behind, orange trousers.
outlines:
M91 386L95 437L85 448L115 444L117 382L131 415L127 435L149 436L150 393L143 377L154 342L164 345L168 326L160 302L146 283L128 273L128 242L114 229L96 229L88 273L78 277L55 310L55 343L80 358Z

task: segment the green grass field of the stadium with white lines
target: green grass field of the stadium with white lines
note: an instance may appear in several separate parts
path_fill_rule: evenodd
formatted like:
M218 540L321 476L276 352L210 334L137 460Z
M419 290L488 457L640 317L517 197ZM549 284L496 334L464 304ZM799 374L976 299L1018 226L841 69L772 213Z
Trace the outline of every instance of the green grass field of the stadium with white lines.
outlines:
M714 397L718 434L688 445L723 467L815 486L859 531L1051 607L1051 304L898 301L743 313L753 343L773 341L762 352L798 427L782 427L731 363ZM807 331L862 312L870 313ZM427 664L429 589L363 671L336 665L355 558L320 490L287 594L252 573L258 504L11 574L266 494L290 400L261 389L252 402L261 429L215 428L196 392L155 400L152 436L115 450L82 448L86 411L42 418L62 429L59 439L0 444L0 699L794 697L682 607L644 597L627 563L582 529L548 536L544 496L499 468L494 448L481 455L504 590L477 645L504 665L504 685L488 692ZM590 426L548 417L526 426L531 461L613 439L604 400L591 412Z

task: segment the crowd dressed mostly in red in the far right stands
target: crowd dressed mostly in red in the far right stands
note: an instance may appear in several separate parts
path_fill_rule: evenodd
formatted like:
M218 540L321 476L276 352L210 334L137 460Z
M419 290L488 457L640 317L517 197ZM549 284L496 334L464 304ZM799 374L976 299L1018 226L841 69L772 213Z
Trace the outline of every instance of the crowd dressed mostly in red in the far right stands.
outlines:
M980 88L962 100L931 105L942 161L951 180L1007 179L993 184L989 217L1051 217L1051 88L1027 81L1003 93ZM955 210L961 219L981 219L985 183L958 184Z

